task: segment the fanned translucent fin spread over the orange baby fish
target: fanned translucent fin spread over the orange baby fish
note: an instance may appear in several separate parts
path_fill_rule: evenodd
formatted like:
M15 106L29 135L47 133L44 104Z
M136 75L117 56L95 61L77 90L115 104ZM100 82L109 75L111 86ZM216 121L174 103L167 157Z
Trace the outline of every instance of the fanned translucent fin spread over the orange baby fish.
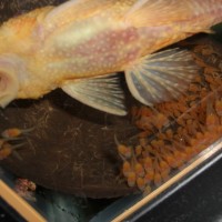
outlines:
M172 49L141 58L125 70L125 79L133 97L152 105L178 98L196 70L189 51Z

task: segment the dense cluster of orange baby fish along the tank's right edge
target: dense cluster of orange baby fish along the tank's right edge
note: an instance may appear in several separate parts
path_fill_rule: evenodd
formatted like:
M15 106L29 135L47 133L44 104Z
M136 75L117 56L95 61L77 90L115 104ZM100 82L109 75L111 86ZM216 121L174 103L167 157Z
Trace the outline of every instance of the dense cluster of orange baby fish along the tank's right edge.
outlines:
M186 93L153 109L133 107L132 120L141 130L138 144L118 143L122 175L144 193L222 137L222 58L210 46L194 47L193 56L202 69Z

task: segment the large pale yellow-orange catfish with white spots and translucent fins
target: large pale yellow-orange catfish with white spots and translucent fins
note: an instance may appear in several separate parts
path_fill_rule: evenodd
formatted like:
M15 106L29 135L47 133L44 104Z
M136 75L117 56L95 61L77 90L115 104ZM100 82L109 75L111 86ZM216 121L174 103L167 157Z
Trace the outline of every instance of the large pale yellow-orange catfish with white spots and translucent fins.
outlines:
M123 115L117 72L147 105L176 98L196 67L186 50L159 50L221 21L222 0L71 0L10 19L0 27L0 105L61 88Z

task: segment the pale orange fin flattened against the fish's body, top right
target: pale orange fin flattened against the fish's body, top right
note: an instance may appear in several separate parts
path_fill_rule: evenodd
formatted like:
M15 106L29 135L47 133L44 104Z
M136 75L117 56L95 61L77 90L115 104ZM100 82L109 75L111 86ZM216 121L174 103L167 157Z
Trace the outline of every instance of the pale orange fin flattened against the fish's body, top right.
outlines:
M191 7L190 0L138 0L124 19L137 28L185 21L191 17Z

